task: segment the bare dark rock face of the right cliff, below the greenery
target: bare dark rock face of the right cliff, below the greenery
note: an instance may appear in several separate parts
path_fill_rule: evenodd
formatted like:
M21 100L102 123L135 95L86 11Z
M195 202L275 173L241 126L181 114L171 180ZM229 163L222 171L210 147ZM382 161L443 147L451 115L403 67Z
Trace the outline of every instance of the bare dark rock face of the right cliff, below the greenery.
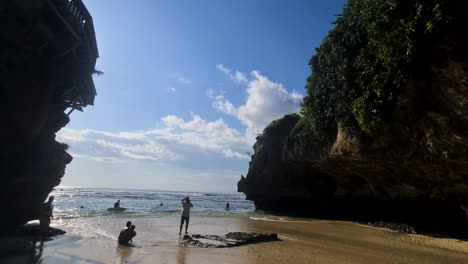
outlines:
M403 221L421 231L467 235L460 208L468 204L465 31L438 33L425 43L390 122L374 133L335 118L326 130L331 140L304 140L314 133L303 129L304 106L302 115L272 122L257 137L238 191L274 213Z

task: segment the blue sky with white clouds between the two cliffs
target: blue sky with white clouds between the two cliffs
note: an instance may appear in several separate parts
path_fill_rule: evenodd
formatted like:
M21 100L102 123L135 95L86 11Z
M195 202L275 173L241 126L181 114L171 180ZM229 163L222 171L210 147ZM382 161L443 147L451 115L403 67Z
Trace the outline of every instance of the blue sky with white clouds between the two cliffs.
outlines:
M94 106L57 134L61 185L236 192L255 136L297 112L345 0L84 0Z

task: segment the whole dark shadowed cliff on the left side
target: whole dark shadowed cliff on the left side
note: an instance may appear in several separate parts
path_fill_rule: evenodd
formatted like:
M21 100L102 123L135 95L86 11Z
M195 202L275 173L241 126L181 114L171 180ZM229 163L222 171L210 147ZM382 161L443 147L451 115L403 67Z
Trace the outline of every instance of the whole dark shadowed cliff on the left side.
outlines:
M37 219L72 160L55 133L93 104L98 50L81 0L1 1L0 21L0 225L14 226Z

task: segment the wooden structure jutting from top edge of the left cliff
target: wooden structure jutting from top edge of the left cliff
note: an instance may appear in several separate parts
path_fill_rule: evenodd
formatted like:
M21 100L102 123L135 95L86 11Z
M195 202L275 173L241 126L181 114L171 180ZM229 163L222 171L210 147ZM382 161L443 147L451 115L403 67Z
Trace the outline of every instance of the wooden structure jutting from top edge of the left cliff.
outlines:
M70 56L75 60L81 73L74 79L71 87L64 87L61 96L68 108L82 111L83 107L94 104L96 89L92 74L96 72L96 59L99 57L94 32L93 18L81 0L46 0L48 7L56 16L53 24L56 29L68 36L64 38L61 56ZM62 36L64 34L61 34Z

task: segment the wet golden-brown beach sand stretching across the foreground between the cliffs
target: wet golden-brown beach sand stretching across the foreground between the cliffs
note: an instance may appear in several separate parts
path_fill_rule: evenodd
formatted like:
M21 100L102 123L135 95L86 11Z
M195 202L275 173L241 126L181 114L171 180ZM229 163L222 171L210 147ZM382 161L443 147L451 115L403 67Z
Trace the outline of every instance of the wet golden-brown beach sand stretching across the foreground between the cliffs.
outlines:
M180 246L178 219L136 218L133 247L117 245L123 218L56 221L68 232L0 263L468 263L468 242L337 221L192 217L189 234L277 233L281 241L236 248Z

